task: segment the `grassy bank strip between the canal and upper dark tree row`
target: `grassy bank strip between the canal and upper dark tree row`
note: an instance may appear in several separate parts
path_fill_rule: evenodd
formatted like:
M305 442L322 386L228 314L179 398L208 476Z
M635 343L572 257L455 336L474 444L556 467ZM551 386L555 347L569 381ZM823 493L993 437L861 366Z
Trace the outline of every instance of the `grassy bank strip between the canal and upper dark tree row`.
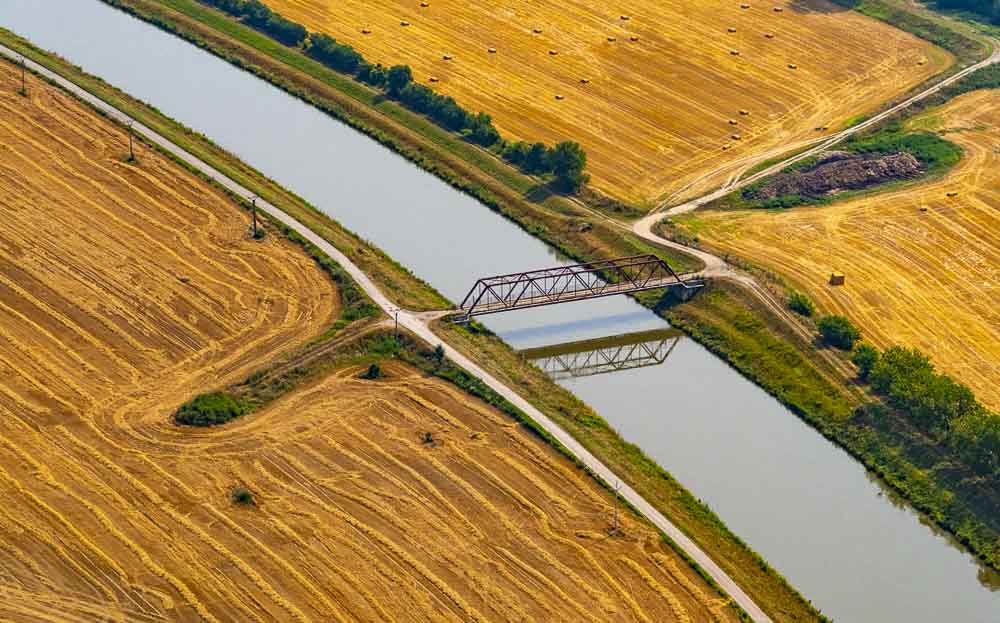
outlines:
M621 212L618 202L588 192L585 196L593 197L596 206L591 207L555 194L537 178L379 91L195 0L100 1L193 43L375 139L566 257L586 261L655 253L680 272L700 265L689 255L623 236L597 214Z

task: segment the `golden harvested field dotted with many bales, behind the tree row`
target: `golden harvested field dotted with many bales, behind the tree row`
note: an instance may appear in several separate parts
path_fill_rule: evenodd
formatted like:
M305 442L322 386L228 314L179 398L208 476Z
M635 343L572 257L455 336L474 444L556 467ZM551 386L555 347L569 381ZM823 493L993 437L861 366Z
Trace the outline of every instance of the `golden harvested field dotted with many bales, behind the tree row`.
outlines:
M506 138L579 142L591 185L632 202L708 190L952 63L824 0L267 4L371 62L436 79Z

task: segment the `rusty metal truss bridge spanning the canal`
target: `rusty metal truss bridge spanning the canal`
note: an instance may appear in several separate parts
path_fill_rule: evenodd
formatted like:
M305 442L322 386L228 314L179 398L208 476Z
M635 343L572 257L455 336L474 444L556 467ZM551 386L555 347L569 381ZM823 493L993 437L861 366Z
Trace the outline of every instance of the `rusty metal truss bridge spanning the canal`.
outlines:
M666 261L652 254L543 268L480 279L462 300L460 321L659 288L678 289L686 298L704 285L701 275L678 275Z

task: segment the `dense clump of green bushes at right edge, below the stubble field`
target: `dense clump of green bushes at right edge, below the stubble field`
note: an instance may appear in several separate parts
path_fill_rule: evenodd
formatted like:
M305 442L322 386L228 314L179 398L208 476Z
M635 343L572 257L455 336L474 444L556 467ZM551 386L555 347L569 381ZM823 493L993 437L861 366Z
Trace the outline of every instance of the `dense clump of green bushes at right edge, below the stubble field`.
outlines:
M864 353L864 354L862 354ZM946 441L976 473L1000 478L1000 416L965 385L935 372L926 355L894 346L855 353L858 376L920 430Z

